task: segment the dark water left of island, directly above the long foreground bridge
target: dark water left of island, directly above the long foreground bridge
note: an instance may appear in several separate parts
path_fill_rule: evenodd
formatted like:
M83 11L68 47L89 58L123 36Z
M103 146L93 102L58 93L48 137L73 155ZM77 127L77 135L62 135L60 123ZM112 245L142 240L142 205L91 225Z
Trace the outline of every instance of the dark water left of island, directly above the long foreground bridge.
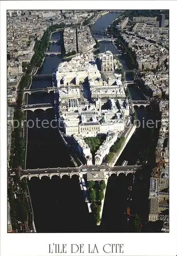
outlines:
M32 120L29 126L34 123L34 127L28 128L27 168L72 167L68 148L57 128L53 128L56 126L54 110L28 111L28 120ZM43 120L48 122L42 125Z

